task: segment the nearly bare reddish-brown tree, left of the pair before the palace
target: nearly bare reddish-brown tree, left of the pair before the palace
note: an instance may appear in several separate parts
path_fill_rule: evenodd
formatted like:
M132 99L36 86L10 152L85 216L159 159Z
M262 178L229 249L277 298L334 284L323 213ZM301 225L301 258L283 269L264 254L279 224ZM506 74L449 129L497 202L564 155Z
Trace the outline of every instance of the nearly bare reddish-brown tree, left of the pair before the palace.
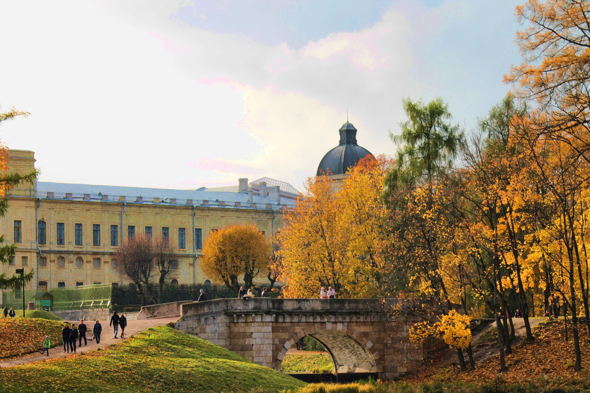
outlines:
M153 260L152 238L143 234L130 237L117 250L119 270L137 286L142 305L156 300L149 282Z

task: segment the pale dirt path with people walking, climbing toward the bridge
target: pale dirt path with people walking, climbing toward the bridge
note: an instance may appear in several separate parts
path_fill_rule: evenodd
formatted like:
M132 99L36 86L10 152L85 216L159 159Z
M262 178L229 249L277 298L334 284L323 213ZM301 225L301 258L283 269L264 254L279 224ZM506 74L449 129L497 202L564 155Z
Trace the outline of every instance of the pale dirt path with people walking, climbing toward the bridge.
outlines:
M166 323L176 322L178 321L178 316L173 317L165 317L165 318L152 318L152 319L136 319L134 321L127 321L127 328L125 328L125 339L129 338L136 333L143 332L148 328L153 328L155 326L166 325ZM73 321L74 323L80 321ZM91 329L94 326L94 321L90 321L90 323L86 323L89 326L89 333L86 333L87 337L91 337ZM65 323L65 321L64 321ZM120 338L113 338L113 328L109 326L108 322L101 321L103 325L103 333L100 335L100 344L96 344L94 340L89 340L88 345L78 346L78 342L76 342L76 353L80 354L81 352L92 351L93 349L102 348L103 346L116 344L120 342ZM119 329L119 333L121 330ZM119 337L119 336L117 336ZM83 341L84 344L84 341ZM63 358L64 356L74 355L71 352L64 352L64 348L62 345L56 346L49 350L49 356L41 355L41 346L39 347L39 352L35 352L35 354L25 355L20 358L10 359L0 363L0 368L5 367L12 367L18 366L25 363L43 361L46 359L54 359L54 358Z

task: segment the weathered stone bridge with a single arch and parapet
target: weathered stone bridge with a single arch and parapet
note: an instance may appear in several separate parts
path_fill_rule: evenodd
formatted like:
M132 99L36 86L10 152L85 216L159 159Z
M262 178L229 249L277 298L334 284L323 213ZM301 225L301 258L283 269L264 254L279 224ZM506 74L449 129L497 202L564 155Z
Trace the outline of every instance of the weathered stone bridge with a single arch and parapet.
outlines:
M392 379L417 371L438 340L414 344L414 299L217 299L185 303L175 328L281 369L286 352L309 335L326 347L336 374L374 372Z

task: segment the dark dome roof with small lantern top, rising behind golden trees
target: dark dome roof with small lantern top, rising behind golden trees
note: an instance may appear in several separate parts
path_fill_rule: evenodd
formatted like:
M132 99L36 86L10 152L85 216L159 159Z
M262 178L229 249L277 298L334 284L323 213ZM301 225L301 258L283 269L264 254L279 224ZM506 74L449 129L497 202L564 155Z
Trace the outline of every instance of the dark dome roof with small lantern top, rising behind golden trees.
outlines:
M340 127L340 144L322 158L317 167L317 176L326 173L345 174L350 167L358 164L366 156L373 154L356 144L356 128L347 121Z

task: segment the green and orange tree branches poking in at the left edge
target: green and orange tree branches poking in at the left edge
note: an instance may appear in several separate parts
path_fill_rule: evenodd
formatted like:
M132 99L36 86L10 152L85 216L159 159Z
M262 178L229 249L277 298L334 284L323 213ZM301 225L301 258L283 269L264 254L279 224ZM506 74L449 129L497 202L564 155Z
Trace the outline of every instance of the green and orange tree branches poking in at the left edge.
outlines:
M11 108L7 112L0 113L0 124L6 120L14 119L18 116L27 117L28 112L17 111ZM8 168L8 148L4 144L0 144L0 217L4 217L6 210L8 210L8 191L18 186L18 184L29 182L32 183L37 179L38 171L32 171L31 173L17 173L9 172ZM6 236L0 236L0 263L9 263L15 256L17 245L14 243L6 244ZM0 273L0 290L3 289L17 289L29 282L33 277L33 271L24 275L21 279L20 275L14 275L11 277L6 276L4 273Z

